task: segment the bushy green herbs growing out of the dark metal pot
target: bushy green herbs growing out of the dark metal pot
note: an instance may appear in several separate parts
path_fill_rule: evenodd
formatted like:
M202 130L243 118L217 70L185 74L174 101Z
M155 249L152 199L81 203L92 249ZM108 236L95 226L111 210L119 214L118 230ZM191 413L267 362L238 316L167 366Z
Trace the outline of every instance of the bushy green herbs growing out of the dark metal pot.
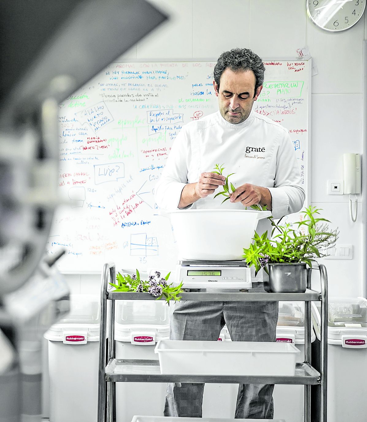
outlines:
M273 226L271 239L268 239L267 231L262 235L255 231L252 238L254 243L250 244L249 248L244 248L243 257L247 264L255 266L255 275L260 268L264 268L264 271L268 273L266 264L306 262L309 267L312 267L312 261L316 258L327 256L327 251L335 246L340 232L337 229L329 230L327 223L319 224L319 222L330 222L318 217L319 211L321 211L320 208L313 206L301 211L304 219L294 224L298 226L298 229L301 226L307 226L308 233L305 234L293 229L290 224L280 225L279 222L284 216L277 223L274 222L272 216L268 217ZM274 235L275 230L279 232L276 235Z

